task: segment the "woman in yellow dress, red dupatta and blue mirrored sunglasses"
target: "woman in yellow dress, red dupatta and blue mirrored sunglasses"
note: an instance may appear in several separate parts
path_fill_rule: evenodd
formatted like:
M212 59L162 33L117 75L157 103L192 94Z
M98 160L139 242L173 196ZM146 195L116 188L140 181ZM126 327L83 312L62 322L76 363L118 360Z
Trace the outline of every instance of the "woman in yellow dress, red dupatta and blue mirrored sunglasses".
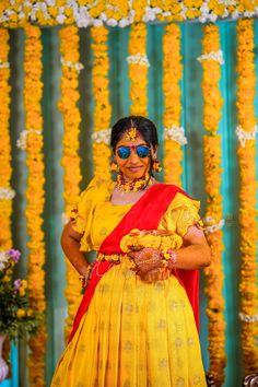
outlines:
M153 177L149 119L118 120L112 148L117 180L93 179L63 230L86 290L51 386L206 386L194 317L197 269L210 263L199 203Z

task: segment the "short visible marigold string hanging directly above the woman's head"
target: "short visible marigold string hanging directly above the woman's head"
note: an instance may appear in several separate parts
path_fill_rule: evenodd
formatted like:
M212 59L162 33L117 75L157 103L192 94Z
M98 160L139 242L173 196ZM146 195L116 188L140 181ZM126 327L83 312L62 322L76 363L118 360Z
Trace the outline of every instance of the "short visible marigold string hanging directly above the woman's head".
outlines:
M129 79L131 115L148 116L148 67L146 57L146 25L136 23L131 26L129 42Z

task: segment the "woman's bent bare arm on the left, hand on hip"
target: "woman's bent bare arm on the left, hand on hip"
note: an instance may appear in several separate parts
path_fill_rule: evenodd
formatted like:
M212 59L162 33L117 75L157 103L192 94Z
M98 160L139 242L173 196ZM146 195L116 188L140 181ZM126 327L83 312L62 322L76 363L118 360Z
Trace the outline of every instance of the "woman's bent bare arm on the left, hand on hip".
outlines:
M72 228L71 221L64 226L61 235L61 246L66 257L81 275L87 273L87 261L82 251L80 251L80 241L83 234L75 232Z

